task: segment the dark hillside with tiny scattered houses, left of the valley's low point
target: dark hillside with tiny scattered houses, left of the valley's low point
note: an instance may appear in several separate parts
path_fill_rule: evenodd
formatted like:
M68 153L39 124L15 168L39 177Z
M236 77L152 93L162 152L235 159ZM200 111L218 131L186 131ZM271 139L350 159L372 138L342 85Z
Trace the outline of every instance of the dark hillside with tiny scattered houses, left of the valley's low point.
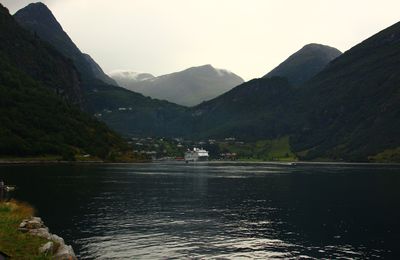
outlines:
M102 83L93 87L85 93L86 111L125 136L176 137L186 131L185 122L175 123L177 118L184 116L184 107L121 87Z

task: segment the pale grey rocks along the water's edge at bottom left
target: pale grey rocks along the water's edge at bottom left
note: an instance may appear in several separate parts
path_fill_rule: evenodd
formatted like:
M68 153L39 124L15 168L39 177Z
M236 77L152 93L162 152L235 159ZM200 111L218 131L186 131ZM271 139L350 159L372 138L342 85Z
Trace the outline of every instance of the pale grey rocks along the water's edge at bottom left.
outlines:
M51 255L52 259L57 260L76 260L76 255L72 246L66 245L64 239L51 234L39 217L31 217L21 222L18 228L23 233L38 236L49 240L38 248L39 252L45 255Z

